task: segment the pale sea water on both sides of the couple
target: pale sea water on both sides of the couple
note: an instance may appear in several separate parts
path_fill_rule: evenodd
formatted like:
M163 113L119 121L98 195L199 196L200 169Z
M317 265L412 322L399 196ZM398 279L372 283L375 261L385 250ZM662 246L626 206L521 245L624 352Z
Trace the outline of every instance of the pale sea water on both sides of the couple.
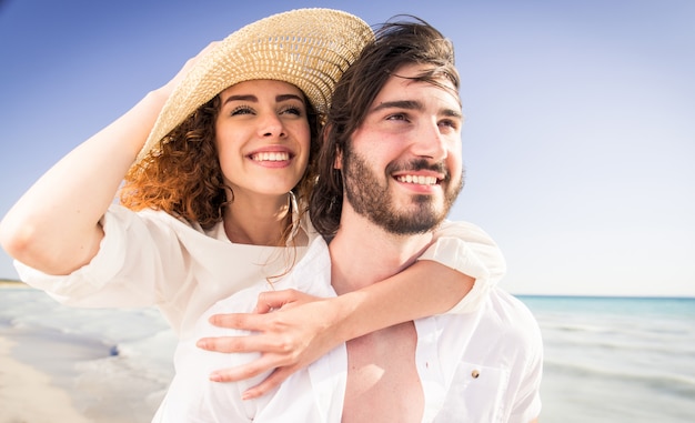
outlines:
M695 299L520 299L545 344L542 423L695 422ZM70 309L0 289L0 336L99 422L149 422L173 372L175 338L154 309Z

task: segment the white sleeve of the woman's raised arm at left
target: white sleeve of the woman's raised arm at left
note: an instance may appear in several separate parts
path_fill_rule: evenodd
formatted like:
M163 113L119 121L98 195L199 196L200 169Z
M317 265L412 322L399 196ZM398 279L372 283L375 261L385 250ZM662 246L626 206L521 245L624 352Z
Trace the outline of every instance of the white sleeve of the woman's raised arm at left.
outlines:
M100 222L104 238L87 265L68 275L52 275L19 261L27 284L72 306L148 306L162 298L160 283L182 274L175 234L164 225L112 204Z

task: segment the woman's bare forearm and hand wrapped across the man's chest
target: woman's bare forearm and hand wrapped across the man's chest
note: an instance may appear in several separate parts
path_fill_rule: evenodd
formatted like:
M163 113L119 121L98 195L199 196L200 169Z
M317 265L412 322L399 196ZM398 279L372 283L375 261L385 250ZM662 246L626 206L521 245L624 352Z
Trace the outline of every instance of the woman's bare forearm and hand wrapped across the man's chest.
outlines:
M280 385L342 342L446 312L473 283L471 276L424 260L392 278L336 298L318 299L294 290L263 292L256 303L256 312L261 314L219 314L210 320L218 326L258 334L205 338L198 346L226 353L260 352L261 357L251 363L211 375L213 381L232 382L275 369L243 395L253 399Z

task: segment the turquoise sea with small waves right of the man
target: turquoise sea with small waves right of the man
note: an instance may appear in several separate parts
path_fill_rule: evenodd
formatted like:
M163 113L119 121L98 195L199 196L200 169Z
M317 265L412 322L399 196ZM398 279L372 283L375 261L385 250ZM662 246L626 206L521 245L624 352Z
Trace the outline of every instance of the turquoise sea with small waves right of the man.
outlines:
M545 345L541 422L695 422L695 299L520 299Z

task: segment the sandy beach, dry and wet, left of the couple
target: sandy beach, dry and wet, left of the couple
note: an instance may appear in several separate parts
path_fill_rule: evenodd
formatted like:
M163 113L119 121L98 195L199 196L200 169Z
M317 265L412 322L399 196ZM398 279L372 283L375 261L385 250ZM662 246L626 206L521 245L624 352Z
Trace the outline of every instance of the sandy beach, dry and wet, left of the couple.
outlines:
M23 289L0 281L0 295ZM148 423L158 402L117 370L107 380L80 377L75 365L112 366L108 349L69 334L0 325L0 423ZM81 364L79 364L81 363Z

